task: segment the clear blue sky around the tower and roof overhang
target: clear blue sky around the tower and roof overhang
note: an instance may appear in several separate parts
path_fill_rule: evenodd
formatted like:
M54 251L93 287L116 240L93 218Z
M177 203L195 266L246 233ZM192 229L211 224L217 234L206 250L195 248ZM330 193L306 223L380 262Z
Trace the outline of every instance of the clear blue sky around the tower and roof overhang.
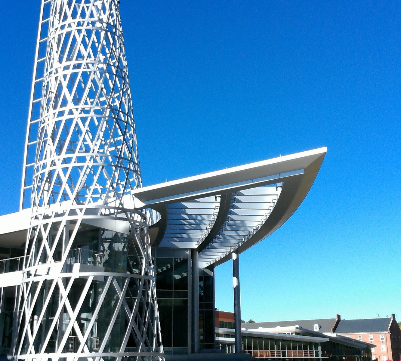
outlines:
M144 185L328 147L298 211L241 254L244 319L401 320L400 10L121 1ZM0 214L18 209L38 12L0 12ZM230 311L231 264L216 275Z

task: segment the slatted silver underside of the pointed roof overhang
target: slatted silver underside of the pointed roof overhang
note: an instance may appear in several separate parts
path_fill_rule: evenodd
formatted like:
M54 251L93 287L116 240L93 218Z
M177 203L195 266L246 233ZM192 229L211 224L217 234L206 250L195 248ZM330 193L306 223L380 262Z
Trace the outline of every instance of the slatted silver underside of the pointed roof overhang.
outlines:
M260 229L281 190L265 186L169 204L159 247L198 248L201 266L209 266Z

